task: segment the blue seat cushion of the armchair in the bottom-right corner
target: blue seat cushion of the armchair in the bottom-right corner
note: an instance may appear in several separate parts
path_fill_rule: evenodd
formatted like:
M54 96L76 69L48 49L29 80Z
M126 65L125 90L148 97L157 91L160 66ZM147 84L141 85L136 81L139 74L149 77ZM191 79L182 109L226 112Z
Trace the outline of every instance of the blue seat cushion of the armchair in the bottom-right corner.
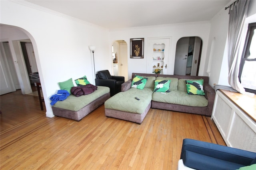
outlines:
M188 150L185 150L182 160L184 165L199 170L236 170L244 166Z

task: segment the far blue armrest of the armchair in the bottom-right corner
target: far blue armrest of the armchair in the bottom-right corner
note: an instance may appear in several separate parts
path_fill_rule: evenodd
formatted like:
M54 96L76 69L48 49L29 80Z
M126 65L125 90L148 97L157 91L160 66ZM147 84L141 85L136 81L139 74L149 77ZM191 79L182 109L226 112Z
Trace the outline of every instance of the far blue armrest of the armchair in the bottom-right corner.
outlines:
M244 166L250 165L256 157L254 152L193 139L184 139L180 158L184 158L184 155L188 154L189 151Z

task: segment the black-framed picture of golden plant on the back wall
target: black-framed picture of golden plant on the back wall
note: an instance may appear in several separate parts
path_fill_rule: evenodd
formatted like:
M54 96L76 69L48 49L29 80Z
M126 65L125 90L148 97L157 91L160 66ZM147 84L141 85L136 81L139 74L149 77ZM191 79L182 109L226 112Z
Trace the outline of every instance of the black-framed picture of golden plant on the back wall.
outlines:
M130 39L130 58L144 58L144 38Z

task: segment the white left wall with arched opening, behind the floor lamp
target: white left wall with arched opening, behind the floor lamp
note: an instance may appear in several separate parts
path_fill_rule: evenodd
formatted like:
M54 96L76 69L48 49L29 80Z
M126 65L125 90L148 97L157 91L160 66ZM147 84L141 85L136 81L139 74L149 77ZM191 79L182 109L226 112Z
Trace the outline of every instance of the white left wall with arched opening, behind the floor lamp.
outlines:
M106 57L111 54L111 46L107 29L36 8L39 7L25 1L1 1L0 21L22 28L30 38L38 64L46 116L53 117L49 98L59 90L58 82L86 75L94 84L92 53L88 46L96 46L96 72L102 68L111 70L112 63Z

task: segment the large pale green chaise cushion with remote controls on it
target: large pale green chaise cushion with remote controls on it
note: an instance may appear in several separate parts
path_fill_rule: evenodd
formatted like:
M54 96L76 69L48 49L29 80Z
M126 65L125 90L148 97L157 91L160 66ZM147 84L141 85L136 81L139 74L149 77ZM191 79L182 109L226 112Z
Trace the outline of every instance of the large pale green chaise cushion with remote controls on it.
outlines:
M144 88L143 90L130 88L106 100L105 108L142 114L152 100L152 93L152 88ZM136 100L135 97L140 100Z

